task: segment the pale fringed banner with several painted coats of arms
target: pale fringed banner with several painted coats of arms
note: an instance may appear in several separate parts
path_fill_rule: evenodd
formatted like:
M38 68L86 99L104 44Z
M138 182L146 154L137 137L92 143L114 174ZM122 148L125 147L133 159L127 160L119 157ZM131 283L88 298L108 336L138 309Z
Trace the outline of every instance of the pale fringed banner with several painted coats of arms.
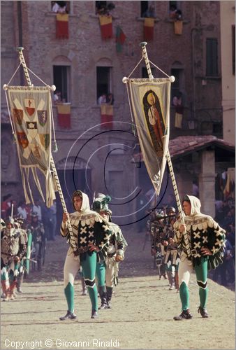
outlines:
M47 207L55 199L54 181L50 172L51 158L51 95L47 87L8 87L8 104L13 121L17 154L22 174L26 203L34 203L30 179L34 179ZM45 194L38 179L39 169L45 176ZM30 172L33 178L29 176Z

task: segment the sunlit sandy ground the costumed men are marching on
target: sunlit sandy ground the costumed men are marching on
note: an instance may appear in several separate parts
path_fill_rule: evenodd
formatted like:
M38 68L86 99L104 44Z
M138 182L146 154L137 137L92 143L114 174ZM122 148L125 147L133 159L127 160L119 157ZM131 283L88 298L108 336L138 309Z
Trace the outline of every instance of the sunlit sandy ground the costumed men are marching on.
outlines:
M209 318L197 312L198 288L191 278L193 319L173 321L180 313L179 293L159 280L144 234L124 231L128 248L120 264L112 309L91 316L88 296L75 283L76 321L65 314L62 237L47 242L43 272L29 274L22 294L1 302L1 349L235 349L235 292L209 280Z

